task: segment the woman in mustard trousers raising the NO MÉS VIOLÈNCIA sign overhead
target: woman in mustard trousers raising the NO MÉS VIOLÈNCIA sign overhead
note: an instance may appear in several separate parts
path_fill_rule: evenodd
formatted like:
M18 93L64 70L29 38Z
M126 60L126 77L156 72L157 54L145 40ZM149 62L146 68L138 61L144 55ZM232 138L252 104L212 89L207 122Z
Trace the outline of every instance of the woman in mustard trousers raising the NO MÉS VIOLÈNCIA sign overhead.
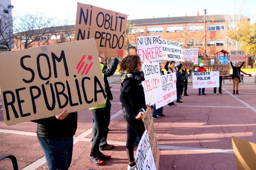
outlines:
M238 93L238 86L239 83L241 83L241 79L240 79L240 72L241 72L241 68L244 65L244 62L241 64L241 66L238 66L238 63L235 64L235 67L233 66L232 62L230 62L231 67L233 69L233 74L232 74L232 79L233 79L233 94L235 94L235 86L236 86L236 94Z

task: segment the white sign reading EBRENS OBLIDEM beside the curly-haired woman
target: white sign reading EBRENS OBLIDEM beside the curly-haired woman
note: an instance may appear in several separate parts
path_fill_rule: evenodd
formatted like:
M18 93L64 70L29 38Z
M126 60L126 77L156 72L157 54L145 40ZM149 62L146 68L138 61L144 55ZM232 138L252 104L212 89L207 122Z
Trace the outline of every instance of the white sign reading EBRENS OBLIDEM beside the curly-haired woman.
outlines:
M144 62L142 65L145 81L142 82L146 103L155 104L162 98L160 68L158 62Z

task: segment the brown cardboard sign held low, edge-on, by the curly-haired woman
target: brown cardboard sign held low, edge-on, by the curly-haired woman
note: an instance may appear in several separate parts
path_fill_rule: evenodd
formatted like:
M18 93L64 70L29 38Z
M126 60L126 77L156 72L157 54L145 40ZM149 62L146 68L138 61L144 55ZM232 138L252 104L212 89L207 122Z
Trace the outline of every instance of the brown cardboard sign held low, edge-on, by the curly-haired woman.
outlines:
M145 129L148 131L150 147L153 153L156 169L158 170L160 152L157 145L156 131L155 131L154 122L152 118L151 108L149 107L147 108L146 113L143 115L143 120L144 120Z

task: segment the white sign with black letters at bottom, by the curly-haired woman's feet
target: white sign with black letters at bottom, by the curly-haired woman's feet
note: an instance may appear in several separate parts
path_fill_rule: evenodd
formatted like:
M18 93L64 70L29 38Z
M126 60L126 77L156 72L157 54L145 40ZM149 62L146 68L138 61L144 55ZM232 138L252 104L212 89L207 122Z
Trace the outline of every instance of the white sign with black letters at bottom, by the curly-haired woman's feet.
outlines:
M135 153L135 162L138 170L156 170L147 130L145 130L143 133L140 143L137 147Z

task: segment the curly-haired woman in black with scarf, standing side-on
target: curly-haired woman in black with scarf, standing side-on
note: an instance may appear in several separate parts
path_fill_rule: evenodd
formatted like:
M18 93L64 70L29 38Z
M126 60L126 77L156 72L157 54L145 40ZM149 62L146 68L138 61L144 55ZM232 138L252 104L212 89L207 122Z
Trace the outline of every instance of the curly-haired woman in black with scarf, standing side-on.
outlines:
M142 137L145 128L142 120L146 110L144 89L141 85L145 80L141 59L138 55L128 55L120 64L121 94L120 101L124 107L124 118L127 122L126 152L129 160L128 170L136 168L134 161L134 145L136 136ZM148 106L150 107L150 105Z

